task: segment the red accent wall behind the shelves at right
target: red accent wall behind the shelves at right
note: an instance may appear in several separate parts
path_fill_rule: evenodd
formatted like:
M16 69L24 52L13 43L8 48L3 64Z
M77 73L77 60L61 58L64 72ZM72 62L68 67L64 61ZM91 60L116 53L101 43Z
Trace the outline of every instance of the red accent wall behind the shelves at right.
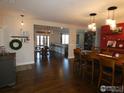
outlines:
M116 47L115 48L119 48L119 44L123 44L124 46L124 23L118 23L117 27L121 27L122 28L122 32L121 33L112 33L112 31L110 30L109 25L104 25L101 27L101 33L100 33L100 47L105 49L107 48L107 42L108 41L117 41ZM121 49L124 49L124 47L122 47Z

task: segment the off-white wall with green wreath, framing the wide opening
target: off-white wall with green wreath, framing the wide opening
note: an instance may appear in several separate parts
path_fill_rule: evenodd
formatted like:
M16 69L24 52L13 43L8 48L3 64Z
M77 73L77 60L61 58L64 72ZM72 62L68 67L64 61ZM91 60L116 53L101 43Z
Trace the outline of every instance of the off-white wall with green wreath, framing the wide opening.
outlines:
M16 52L16 65L32 64L34 63L34 24L38 25L48 25L48 26L58 26L69 28L70 41L69 41L69 58L73 57L73 49L76 47L76 31L79 27L55 22L48 22L35 19L25 19L23 30L27 31L30 36L30 41L23 43L23 47L14 51L10 49L9 42L12 40L11 36L20 35L20 19L15 16L5 16L3 20L4 25L4 46L9 52ZM53 37L55 38L55 37Z

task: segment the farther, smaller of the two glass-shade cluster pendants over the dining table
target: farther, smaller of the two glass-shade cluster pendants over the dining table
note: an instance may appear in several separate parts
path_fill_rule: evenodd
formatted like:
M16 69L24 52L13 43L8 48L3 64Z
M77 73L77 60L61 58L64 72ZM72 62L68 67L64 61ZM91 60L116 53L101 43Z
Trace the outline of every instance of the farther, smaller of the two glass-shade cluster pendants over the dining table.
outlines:
M90 24L88 25L88 30L95 32L96 31L96 23L95 23L96 13L91 13L89 14L89 16L90 16Z

